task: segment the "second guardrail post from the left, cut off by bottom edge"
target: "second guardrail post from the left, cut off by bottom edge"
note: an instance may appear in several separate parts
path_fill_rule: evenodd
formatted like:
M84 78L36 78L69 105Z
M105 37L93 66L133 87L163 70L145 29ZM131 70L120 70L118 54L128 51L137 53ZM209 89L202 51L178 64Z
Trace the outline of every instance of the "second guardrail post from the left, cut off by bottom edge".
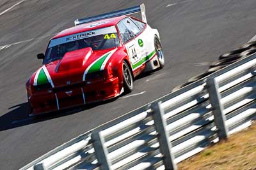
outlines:
M92 132L92 141L100 169L111 170L111 162L108 160L108 150L104 146L105 141L100 132Z

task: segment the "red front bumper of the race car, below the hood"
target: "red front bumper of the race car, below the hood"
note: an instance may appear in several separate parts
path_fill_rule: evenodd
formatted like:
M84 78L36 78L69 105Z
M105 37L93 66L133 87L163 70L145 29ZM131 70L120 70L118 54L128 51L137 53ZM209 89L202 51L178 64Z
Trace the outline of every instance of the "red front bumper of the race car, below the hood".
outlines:
M117 77L56 87L47 92L36 92L29 97L31 115L41 115L86 103L104 101L119 94L120 85Z

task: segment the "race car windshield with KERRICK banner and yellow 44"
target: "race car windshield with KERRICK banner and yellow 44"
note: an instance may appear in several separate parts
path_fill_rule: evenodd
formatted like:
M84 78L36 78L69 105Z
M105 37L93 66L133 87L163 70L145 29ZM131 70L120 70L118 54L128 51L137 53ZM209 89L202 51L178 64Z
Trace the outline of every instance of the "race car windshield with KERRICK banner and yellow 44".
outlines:
M92 50L105 50L119 45L114 26L52 39L45 52L44 64L60 60L67 52L91 47Z

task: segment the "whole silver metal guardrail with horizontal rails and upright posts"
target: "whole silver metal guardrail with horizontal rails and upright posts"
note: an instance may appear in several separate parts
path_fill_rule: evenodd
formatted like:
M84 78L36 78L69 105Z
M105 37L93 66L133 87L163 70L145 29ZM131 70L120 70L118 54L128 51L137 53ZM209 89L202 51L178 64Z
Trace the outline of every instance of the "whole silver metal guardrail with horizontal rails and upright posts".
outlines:
M177 169L256 116L256 54L116 118L21 169Z

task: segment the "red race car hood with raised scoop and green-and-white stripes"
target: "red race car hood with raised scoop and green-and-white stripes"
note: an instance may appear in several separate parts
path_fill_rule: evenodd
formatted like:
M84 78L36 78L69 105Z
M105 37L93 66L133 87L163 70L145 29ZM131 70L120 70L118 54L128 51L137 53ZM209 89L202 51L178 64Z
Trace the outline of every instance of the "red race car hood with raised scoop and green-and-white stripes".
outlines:
M83 48L67 52L61 60L43 65L31 80L33 85L51 83L52 87L61 87L86 80L86 74L105 69L117 48L93 51Z

